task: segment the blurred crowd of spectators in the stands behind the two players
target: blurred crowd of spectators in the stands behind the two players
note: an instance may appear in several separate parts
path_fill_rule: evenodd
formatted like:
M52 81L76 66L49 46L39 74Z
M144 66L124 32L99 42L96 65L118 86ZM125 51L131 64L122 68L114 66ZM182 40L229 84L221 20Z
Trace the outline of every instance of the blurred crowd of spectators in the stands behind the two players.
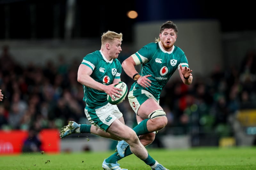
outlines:
M77 82L81 61L65 62L62 54L54 64L21 66L13 59L9 46L0 54L0 129L40 131L61 128L68 120L89 123L84 115L83 88ZM121 56L120 61L122 62ZM40 60L40 59L36 59ZM232 135L229 115L237 110L256 106L256 53L248 50L239 67L223 70L216 66L209 75L193 73L191 85L184 85L179 77L172 77L160 97L168 117L162 134L211 133ZM191 68L193 70L193 68ZM133 83L124 72L127 85ZM135 114L127 100L120 103L126 124L133 127Z

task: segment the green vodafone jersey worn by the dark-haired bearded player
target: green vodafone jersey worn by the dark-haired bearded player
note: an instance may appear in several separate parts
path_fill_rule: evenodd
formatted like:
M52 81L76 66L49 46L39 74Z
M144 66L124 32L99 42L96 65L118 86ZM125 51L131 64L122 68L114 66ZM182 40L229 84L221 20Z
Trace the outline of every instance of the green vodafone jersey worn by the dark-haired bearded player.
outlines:
M185 53L179 47L173 47L172 51L167 52L160 45L160 42L152 42L143 46L138 52L132 55L134 60L140 60L140 75L152 75L148 77L152 81L151 86L148 88L143 88L137 84L137 81L132 84L130 91L137 89L133 91L134 96L141 94L141 90L144 89L154 95L158 100L162 89L175 70L180 67L179 65L188 67L188 60Z

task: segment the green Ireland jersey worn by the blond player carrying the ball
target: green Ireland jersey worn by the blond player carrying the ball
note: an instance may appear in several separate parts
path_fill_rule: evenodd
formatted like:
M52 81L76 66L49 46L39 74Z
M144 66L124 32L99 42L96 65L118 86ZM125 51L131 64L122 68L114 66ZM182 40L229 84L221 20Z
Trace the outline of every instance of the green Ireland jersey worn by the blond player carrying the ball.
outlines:
M102 84L110 85L114 79L119 79L122 66L119 60L108 61L99 50L87 54L81 64L92 69L91 77ZM83 85L84 102L87 108L99 108L108 103L107 94L103 91L88 88Z

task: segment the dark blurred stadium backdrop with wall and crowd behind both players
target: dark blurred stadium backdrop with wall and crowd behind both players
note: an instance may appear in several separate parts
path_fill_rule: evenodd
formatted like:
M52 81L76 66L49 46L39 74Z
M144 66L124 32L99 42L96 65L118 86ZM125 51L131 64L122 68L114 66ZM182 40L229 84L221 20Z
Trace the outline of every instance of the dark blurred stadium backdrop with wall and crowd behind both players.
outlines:
M130 10L138 17L128 18ZM1 129L40 132L60 130L71 119L88 123L76 72L84 55L100 48L101 33L124 34L122 61L154 41L160 25L172 20L179 28L176 45L186 53L194 81L185 86L174 76L167 84L160 102L169 124L150 147L255 145L253 16L253 5L218 1L0 0ZM5 57L4 47L9 50ZM247 61L251 65L245 67ZM119 108L132 127L134 114L127 101ZM61 151L115 145L90 134L59 142ZM70 148L70 142L76 145Z

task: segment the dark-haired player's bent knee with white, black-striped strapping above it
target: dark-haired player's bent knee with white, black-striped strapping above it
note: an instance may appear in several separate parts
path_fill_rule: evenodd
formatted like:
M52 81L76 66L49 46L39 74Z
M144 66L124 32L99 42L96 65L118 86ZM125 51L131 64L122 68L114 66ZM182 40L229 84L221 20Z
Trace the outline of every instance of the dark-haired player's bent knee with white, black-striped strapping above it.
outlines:
M157 130L163 129L168 123L166 113L164 112L164 110L155 110L148 115L148 118L155 123Z

